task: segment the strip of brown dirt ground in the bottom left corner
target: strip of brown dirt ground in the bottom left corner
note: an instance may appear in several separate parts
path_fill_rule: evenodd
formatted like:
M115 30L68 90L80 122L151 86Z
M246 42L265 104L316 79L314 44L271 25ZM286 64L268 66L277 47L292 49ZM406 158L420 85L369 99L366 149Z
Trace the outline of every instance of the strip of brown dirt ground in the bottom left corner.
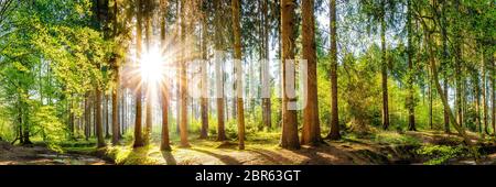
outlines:
M0 165L107 165L98 157L60 154L44 146L11 146L0 143Z

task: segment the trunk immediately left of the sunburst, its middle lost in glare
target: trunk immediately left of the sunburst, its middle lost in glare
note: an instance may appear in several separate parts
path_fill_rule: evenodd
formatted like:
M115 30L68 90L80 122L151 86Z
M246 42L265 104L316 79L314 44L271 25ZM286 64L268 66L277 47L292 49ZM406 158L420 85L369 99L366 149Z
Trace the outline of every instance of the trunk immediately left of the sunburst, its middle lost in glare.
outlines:
M141 24L141 12L142 12L142 0L137 0L137 29L136 29L136 51L137 58L141 58L141 40L142 40L142 24ZM137 62L139 63L139 62ZM139 67L139 64L137 65ZM134 147L143 146L143 138L141 132L141 116L142 116L142 86L141 84L137 84L137 92L136 92L136 118L134 118Z

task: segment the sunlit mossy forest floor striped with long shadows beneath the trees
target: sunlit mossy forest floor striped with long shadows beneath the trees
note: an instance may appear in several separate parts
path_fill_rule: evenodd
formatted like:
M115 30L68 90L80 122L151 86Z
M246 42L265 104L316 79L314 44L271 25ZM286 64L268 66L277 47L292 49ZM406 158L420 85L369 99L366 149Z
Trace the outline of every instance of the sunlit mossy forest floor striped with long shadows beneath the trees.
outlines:
M483 155L482 164L496 164L493 140L470 133ZM64 154L42 146L0 147L1 164L118 164L118 165L377 165L377 164L475 164L456 134L436 131L379 132L344 134L341 141L325 141L317 147L290 151L278 147L279 133L247 136L246 150L236 141L216 142L191 139L191 147L172 145L172 152L159 150L158 138L145 147L122 145L96 150L94 142L78 141L64 145ZM173 140L172 142L177 142ZM7 154L6 154L7 153Z

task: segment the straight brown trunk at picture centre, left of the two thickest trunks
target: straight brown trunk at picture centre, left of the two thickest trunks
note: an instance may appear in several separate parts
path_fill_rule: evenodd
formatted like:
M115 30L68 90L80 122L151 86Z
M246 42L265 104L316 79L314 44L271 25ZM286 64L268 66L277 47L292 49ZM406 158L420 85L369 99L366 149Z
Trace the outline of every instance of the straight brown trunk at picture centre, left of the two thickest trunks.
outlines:
M241 26L240 26L240 3L239 0L231 1L233 7L233 31L234 31L234 51L236 67L236 98L237 98L237 122L239 150L245 150L245 103L242 100L242 56L241 56Z

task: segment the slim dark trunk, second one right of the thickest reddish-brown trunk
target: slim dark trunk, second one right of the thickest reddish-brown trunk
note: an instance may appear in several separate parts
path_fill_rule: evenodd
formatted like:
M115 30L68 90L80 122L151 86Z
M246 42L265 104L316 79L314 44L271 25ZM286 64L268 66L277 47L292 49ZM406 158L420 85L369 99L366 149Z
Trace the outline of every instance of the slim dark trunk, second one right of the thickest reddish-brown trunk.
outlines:
M380 44L382 51L381 63L381 86L382 86L382 129L389 128L389 98L388 98L388 57L386 48L386 7L385 0L381 0L381 18L380 18Z

